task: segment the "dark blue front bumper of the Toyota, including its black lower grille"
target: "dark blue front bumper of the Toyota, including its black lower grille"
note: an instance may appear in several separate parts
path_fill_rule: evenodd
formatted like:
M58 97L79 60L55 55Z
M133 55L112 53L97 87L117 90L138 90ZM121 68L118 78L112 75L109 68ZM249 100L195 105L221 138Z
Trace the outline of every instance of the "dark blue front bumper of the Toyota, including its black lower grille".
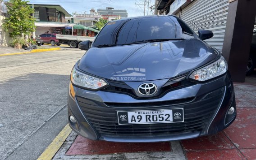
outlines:
M88 91L71 83L68 96L69 117L77 120L69 121L70 127L83 137L113 142L159 142L215 134L234 121L236 112L227 116L231 106L235 108L235 96L228 73L210 82L170 91L157 99ZM118 125L117 111L181 107L182 123Z

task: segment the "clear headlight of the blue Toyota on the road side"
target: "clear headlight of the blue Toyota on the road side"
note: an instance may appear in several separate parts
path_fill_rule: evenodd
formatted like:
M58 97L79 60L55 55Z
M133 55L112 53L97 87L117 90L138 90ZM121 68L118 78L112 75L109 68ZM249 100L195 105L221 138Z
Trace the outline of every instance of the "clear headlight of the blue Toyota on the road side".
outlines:
M77 71L75 67L72 69L70 80L74 85L86 87L92 90L96 90L107 85L103 79L83 74Z

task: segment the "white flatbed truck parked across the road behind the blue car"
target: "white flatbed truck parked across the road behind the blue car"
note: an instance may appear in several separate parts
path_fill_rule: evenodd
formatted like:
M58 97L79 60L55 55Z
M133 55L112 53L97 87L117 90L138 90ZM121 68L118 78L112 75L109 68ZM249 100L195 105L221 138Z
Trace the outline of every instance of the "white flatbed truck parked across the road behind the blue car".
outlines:
M90 40L92 43L95 37L77 35L56 35L56 39L59 39L59 43L68 44L70 48L77 48L80 42Z

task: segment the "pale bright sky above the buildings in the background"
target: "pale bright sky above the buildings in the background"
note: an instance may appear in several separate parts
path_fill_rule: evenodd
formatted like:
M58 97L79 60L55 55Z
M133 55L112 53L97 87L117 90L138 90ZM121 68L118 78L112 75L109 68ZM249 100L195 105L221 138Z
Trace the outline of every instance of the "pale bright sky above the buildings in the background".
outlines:
M149 7L155 4L155 0L149 1ZM93 8L105 9L106 7L113 7L114 9L126 9L128 17L143 16L144 14L144 0L29 0L30 4L59 4L69 14L74 12L90 14L90 10ZM153 11L149 9L149 15L152 15ZM147 15L147 5L146 5Z

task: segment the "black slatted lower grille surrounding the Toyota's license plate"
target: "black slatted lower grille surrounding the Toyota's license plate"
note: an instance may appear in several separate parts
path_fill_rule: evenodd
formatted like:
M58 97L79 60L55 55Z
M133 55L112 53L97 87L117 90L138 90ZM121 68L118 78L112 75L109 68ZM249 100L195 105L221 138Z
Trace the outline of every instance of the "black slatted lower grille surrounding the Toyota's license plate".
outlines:
M189 104L150 108L150 110L184 108L184 122L164 124L119 125L117 111L145 110L145 108L140 108L139 106L136 109L129 109L129 107L125 109L108 108L103 103L99 104L82 97L77 97L77 100L87 120L93 125L98 134L143 136L205 131L221 102L223 93L224 90L222 88L204 97L197 97Z

